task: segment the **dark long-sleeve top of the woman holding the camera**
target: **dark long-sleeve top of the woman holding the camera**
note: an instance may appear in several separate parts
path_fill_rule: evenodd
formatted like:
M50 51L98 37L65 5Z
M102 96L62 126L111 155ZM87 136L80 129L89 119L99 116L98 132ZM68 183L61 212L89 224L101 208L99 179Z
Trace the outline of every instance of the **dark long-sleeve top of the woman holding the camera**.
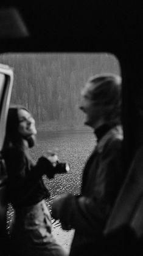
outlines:
M28 152L19 148L9 148L2 152L8 173L7 197L13 206L30 206L49 197L42 176L54 177L51 162L40 157L37 164Z

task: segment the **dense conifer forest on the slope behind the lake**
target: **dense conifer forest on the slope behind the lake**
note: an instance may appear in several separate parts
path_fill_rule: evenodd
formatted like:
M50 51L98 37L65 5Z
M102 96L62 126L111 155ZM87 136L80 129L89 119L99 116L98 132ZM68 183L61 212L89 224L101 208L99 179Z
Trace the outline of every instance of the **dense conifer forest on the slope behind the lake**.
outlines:
M12 104L29 108L39 130L78 129L80 90L97 73L120 73L119 63L108 54L7 54L0 62L13 67Z

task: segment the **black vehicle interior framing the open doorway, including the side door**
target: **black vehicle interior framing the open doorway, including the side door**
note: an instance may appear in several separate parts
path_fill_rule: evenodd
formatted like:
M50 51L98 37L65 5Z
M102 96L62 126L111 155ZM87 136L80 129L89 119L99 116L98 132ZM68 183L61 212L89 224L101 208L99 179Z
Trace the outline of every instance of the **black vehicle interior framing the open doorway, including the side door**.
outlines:
M138 170L137 161L134 162L138 151L142 152L143 143L142 12L142 1L130 1L130 4L117 0L83 1L81 4L73 0L44 1L34 4L6 1L0 4L1 55L109 53L119 61L124 129L123 168L127 178L117 198L113 214L109 218L105 235L127 223L136 213L132 223L136 234L139 237L142 234L142 171ZM13 73L13 67L0 65L0 150L4 141ZM139 161L142 162L142 159L143 157L140 157ZM3 245L7 243L5 234L7 206L4 201L6 179L7 175L1 159L0 240ZM131 194L132 192L134 194ZM5 246L0 246L0 255L9 255Z

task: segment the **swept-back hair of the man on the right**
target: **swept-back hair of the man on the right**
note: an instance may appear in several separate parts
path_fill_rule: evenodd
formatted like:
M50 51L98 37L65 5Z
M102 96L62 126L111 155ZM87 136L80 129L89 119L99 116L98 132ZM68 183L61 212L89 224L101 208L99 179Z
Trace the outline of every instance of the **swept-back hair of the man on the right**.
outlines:
M90 77L82 94L100 108L106 122L120 122L122 78L119 75L103 73Z

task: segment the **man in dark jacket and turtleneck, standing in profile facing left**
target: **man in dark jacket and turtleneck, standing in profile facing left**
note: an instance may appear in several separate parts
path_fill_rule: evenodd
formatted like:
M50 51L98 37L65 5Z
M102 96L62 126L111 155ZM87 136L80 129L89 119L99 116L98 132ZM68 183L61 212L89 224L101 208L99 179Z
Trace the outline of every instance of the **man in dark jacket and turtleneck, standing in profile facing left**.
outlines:
M119 76L89 78L80 109L85 124L94 129L97 146L85 165L81 194L61 195L52 206L52 216L60 219L63 229L75 228L70 255L102 255L103 230L124 178L120 105Z

